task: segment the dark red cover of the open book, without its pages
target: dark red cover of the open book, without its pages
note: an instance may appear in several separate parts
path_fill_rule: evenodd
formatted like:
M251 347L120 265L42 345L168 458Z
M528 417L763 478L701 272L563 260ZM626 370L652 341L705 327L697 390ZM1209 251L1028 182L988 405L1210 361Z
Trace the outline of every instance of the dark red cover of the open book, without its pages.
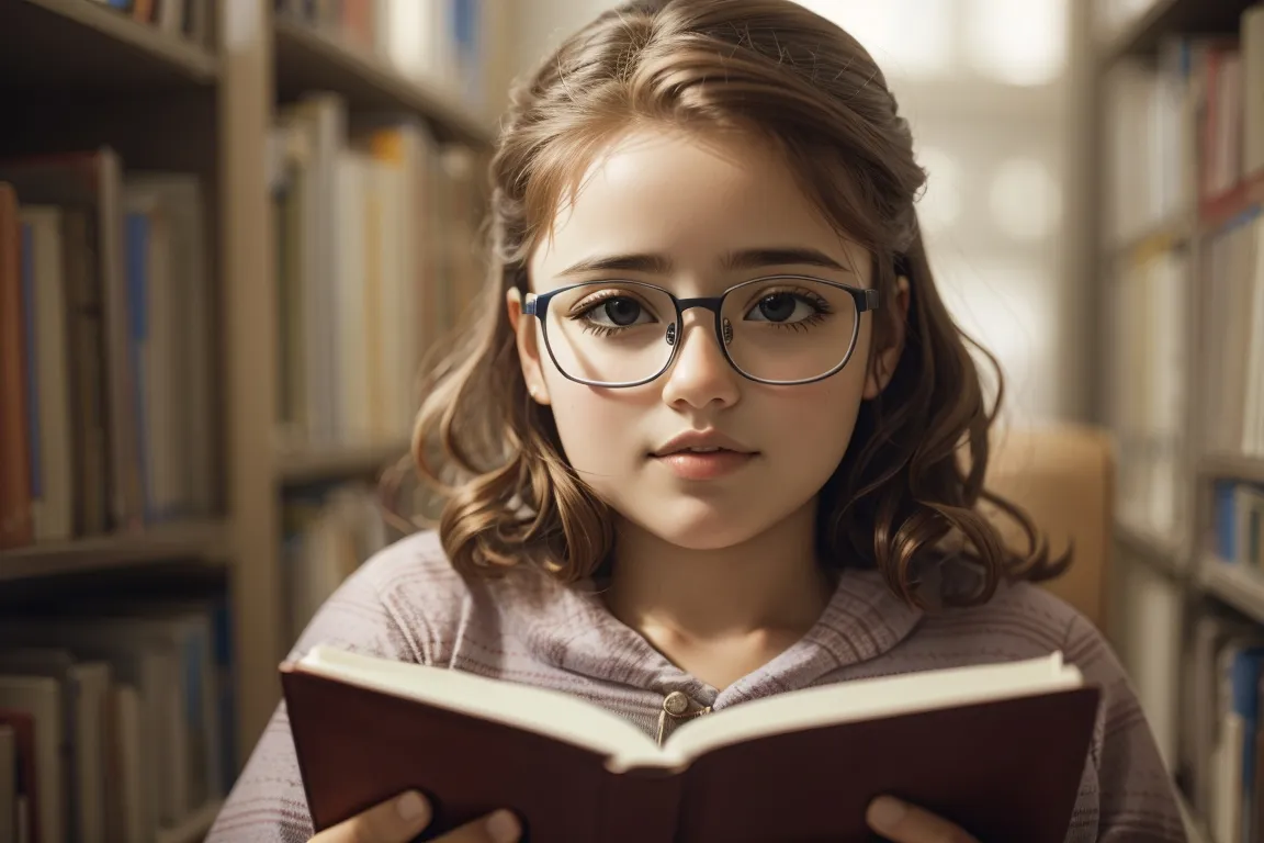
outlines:
M612 772L602 753L301 667L283 665L282 686L317 830L417 787L435 806L421 839L508 808L537 843L858 843L873 839L865 808L884 792L981 843L1062 843L1098 704L1097 689L1062 690L818 725L676 768Z

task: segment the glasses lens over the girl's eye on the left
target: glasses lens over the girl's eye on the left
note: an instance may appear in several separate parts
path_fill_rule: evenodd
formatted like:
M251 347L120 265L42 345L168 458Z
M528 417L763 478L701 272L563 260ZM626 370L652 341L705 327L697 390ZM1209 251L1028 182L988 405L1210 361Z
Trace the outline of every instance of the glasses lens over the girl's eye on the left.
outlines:
M549 350L564 373L599 384L657 375L671 359L679 327L671 297L635 282L594 282L549 303Z

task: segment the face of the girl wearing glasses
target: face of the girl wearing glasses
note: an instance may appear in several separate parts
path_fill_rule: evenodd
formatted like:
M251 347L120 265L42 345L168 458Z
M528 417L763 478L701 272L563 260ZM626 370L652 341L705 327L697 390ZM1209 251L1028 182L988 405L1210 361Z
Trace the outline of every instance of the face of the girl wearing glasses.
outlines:
M637 355L675 345L671 367L638 387L575 383L546 350L541 320L523 316L517 292L509 293L523 375L536 401L552 407L568 461L619 516L672 545L731 547L814 506L847 450L862 397L881 385L867 377L872 316L860 316L854 351L837 374L766 385L729 365L712 311L685 311L683 327L669 335L674 313L618 282L686 298L777 273L871 286L867 250L832 230L769 148L750 138L645 130L621 139L584 174L552 236L532 254L531 289L608 282L584 300L550 303L555 354L565 337L574 346L559 358L568 370L645 377L651 364ZM777 343L803 343L813 332L846 330L849 337L854 320L844 327L838 313L820 318L800 286L769 289L772 298L738 302L734 313L744 317L733 320L734 355L747 329L789 331L766 335L782 337L770 339L769 355ZM695 439L674 442L681 436ZM680 445L722 450L674 452Z

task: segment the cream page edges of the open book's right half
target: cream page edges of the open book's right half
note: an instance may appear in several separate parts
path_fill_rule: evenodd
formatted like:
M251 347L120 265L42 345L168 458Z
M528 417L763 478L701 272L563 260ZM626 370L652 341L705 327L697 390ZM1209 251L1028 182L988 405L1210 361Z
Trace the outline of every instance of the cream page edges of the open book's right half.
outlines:
M693 720L667 738L659 763L683 766L712 749L784 732L1049 694L1082 684L1079 670L1064 665L1060 652L839 682L752 700ZM619 766L623 761L618 760Z

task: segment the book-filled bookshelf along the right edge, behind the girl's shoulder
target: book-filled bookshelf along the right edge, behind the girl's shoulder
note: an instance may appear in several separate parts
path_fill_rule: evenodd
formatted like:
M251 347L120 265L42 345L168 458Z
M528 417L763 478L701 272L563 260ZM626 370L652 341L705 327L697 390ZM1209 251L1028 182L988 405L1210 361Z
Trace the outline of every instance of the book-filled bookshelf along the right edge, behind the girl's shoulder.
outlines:
M1264 488L1264 18L1251 0L1090 5L1111 21L1095 30L1085 171L1103 312L1096 415L1120 478L1112 589L1125 597L1110 634L1192 834L1245 839L1244 822L1264 816L1244 708L1260 698L1264 643L1250 537L1264 509L1249 493Z

